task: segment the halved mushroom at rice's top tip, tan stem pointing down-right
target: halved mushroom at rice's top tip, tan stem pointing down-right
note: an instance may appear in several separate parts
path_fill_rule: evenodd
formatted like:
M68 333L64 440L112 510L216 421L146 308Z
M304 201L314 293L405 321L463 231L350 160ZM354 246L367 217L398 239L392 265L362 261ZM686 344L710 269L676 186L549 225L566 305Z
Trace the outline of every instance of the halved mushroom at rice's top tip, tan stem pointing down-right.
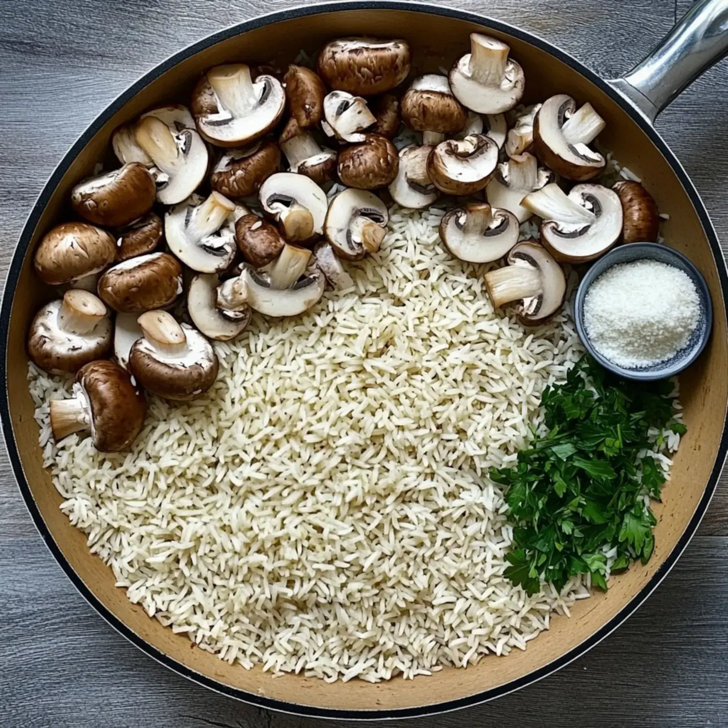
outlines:
M387 205L376 194L345 189L329 205L324 232L339 258L357 261L379 250L388 222Z

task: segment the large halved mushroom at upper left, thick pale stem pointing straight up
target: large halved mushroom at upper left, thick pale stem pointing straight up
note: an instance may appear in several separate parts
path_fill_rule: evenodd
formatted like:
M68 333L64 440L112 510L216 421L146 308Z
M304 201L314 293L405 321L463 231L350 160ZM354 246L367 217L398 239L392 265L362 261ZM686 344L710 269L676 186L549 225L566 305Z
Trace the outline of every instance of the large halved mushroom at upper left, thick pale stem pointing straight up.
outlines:
M210 68L192 92L199 133L218 146L245 146L260 139L279 122L284 108L280 81L266 74L253 81L245 63Z

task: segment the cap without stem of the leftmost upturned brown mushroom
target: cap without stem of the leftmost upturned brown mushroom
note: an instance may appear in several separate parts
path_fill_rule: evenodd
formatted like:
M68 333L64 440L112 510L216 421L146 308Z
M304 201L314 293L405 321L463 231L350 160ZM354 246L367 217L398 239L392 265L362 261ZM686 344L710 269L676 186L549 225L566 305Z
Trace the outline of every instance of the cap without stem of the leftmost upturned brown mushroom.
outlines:
M73 333L62 328L59 319L62 304L59 299L42 306L33 317L28 333L28 356L50 374L79 371L84 364L105 357L111 348L109 312L88 333Z

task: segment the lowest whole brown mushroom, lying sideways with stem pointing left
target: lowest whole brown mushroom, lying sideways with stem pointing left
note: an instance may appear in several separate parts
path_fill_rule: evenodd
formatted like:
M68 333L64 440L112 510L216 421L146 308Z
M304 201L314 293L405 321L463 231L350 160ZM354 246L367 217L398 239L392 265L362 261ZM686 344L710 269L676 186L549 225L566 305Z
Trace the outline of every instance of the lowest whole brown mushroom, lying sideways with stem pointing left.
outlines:
M74 432L91 432L99 452L116 453L136 440L146 400L118 364L88 363L76 374L73 394L68 400L51 400L50 426L56 442Z

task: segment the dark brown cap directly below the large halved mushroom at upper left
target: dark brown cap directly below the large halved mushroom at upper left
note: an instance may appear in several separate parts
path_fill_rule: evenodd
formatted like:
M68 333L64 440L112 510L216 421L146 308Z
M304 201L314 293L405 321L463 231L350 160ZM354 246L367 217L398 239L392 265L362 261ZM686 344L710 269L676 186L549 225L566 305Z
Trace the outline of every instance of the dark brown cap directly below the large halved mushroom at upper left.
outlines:
M261 184L280 167L280 149L262 140L245 149L230 149L218 160L210 175L210 186L225 197L237 199L257 194Z

